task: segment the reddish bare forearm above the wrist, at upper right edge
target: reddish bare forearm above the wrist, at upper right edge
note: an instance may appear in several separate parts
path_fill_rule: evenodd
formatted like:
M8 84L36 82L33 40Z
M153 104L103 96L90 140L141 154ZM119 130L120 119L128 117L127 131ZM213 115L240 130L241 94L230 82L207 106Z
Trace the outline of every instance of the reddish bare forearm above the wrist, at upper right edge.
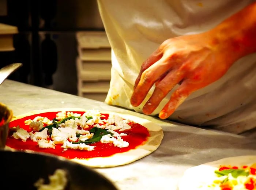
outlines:
M221 44L234 61L256 52L256 2L224 20L209 31L215 36L213 43Z

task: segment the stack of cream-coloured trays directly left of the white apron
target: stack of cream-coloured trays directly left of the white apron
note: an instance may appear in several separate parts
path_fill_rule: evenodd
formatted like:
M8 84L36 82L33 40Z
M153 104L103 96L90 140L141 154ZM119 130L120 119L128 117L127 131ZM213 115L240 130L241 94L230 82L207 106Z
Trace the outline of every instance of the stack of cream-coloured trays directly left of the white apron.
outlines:
M111 47L105 31L76 34L78 95L104 102L109 89Z

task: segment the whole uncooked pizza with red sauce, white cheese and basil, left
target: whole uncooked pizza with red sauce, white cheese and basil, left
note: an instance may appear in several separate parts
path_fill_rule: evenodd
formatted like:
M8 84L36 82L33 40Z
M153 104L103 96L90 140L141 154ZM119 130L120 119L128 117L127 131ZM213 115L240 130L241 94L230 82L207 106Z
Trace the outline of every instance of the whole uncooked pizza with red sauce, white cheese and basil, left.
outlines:
M9 124L6 149L63 156L90 167L114 167L154 152L162 128L110 111L61 108L18 115Z

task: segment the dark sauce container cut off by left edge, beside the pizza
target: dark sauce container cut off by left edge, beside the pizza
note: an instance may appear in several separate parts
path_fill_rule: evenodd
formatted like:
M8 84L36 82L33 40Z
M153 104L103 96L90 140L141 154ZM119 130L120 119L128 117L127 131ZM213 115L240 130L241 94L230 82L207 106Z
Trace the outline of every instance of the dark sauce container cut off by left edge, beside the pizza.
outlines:
M12 110L10 110L5 104L0 103L0 149L5 147L12 115Z

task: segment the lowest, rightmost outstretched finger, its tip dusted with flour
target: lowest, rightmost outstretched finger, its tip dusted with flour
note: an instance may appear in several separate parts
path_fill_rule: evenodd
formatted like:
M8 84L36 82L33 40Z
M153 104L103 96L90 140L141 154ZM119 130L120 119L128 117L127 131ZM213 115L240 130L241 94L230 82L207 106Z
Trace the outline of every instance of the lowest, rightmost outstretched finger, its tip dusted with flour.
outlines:
M200 87L196 87L191 83L184 80L181 86L173 92L171 98L167 104L163 107L159 113L159 118L166 119L177 109L178 106L194 91L198 90Z

